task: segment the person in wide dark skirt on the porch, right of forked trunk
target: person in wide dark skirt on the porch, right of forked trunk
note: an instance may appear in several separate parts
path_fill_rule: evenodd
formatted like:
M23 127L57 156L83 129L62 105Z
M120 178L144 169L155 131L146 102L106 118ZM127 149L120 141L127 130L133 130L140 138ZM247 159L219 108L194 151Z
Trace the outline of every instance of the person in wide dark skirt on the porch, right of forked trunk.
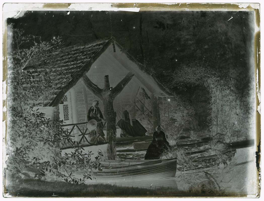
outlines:
M127 105L122 116L123 119L120 119L116 124L119 128L121 128L121 138L146 135L147 130L135 118L135 105Z

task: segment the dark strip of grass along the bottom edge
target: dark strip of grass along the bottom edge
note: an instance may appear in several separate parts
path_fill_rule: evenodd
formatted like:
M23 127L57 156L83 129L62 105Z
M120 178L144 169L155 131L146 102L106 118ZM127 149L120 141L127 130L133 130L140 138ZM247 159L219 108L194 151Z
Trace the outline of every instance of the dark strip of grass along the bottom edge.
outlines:
M65 182L47 182L41 180L20 180L6 187L5 193L12 197L221 197L224 192L200 188L188 191L177 189L145 189L122 187L110 184L76 185Z

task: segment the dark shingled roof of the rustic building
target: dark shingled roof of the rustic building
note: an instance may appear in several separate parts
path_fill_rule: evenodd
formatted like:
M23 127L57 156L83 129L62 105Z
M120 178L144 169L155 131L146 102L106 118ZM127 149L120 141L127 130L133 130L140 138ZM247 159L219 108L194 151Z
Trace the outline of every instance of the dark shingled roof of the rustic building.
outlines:
M47 87L49 89L46 94L43 95L44 106L57 106L64 94L71 89L85 73L89 71L92 64L110 46L111 43L111 38L103 38L93 41L92 43L84 43L60 48L52 53L48 63L41 60L35 63L34 66L37 66L36 70L42 74L44 72L52 81L51 84L47 83ZM117 46L123 50L119 44L117 44ZM129 55L128 52L124 53L130 61L136 64L137 68L133 69L133 71L138 71L140 68L142 69L143 65L141 63L137 62L131 55ZM29 69L30 67L25 68L25 70ZM141 70L138 73L140 74L141 72L144 73ZM154 77L148 75L147 73L144 74L152 80L152 83L159 86L164 93L171 95L168 89L166 89Z

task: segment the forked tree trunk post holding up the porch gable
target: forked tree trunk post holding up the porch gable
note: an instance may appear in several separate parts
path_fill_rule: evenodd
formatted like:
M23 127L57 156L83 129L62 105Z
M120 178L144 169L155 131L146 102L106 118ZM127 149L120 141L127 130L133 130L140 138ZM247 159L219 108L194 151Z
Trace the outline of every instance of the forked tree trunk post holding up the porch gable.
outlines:
M124 79L112 88L110 87L109 77L106 75L104 77L105 86L103 89L100 89L97 85L95 85L86 75L83 76L83 80L87 88L103 102L104 116L107 121L107 159L109 160L116 160L116 112L114 110L113 102L115 97L120 94L133 76L134 74L129 72Z

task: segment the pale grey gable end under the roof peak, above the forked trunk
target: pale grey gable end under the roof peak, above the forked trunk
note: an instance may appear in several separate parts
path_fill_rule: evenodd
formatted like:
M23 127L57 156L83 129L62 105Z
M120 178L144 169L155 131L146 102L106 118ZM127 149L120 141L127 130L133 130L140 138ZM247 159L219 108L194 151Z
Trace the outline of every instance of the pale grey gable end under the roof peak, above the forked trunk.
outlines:
M130 82L144 87L149 96L154 94L158 95L170 95L168 90L151 75L151 72L146 72L148 68L136 61L128 52L115 42L115 50L113 51L110 45L102 55L95 61L92 68L86 73L86 75L93 80L93 75L101 74L101 78L104 75L109 75L109 82L112 87L116 86L128 72L132 72L134 77ZM98 79L98 78L97 78ZM94 80L94 84L102 87L102 81ZM128 84L129 86L129 84Z

